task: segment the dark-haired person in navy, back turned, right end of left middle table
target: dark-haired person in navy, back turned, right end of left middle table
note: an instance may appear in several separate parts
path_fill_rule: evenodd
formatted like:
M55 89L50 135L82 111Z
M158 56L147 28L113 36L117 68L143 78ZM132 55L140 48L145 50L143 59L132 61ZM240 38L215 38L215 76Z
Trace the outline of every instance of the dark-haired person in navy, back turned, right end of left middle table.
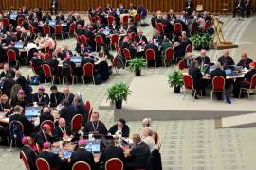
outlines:
M68 102L67 99L63 101L64 108L59 111L60 117L64 118L66 125L70 126L72 118L77 114L76 108Z

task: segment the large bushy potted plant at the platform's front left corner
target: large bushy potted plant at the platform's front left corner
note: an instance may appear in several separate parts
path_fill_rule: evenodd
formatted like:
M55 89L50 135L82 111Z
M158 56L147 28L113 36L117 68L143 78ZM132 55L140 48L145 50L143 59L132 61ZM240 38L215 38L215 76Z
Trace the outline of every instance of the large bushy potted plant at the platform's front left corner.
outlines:
M107 100L110 100L111 105L115 104L117 109L121 109L122 101L127 101L130 93L131 91L127 84L114 84L107 89Z

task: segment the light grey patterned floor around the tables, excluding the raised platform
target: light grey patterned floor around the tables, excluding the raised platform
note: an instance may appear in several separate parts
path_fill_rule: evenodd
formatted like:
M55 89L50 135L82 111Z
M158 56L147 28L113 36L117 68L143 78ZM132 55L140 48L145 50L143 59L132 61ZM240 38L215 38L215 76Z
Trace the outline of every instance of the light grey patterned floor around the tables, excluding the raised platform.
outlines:
M149 19L148 23L150 23ZM235 61L240 59L243 50L246 50L252 59L256 59L256 17L245 20L226 17L221 20L225 23L227 40L237 44L243 43L238 49L230 50L230 55ZM151 26L141 29L148 37L152 37ZM58 46L63 44L68 44L74 50L75 39L58 41ZM215 54L216 51L209 51L209 56L213 60ZM172 69L146 69L143 72L147 75L167 75ZM22 73L25 76L31 75L28 67L22 68ZM99 86L78 84L70 88L74 93L82 92L84 99L89 99L94 109L98 110L108 86L120 81L131 83L133 78L134 76L128 71L121 70L120 75L111 76L108 82ZM50 85L47 84L47 92L49 87ZM61 85L58 88L62 90ZM107 127L114 124L113 111L101 110L100 114L101 120ZM131 127L131 134L140 133L142 130L141 122L128 122L128 125ZM255 170L255 128L215 129L213 120L154 121L153 128L159 131L163 140L161 154L165 170ZM0 164L0 169L3 170L24 169L18 150L9 152L9 149L3 146L0 146Z

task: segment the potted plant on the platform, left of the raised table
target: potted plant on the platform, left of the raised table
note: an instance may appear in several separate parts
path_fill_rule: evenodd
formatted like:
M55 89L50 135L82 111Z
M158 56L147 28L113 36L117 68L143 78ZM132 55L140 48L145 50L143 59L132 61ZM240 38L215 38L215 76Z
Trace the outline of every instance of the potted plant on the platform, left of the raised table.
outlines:
M183 86L183 78L179 70L174 70L173 73L168 74L167 81L170 87L174 87L174 93L180 93L180 87Z

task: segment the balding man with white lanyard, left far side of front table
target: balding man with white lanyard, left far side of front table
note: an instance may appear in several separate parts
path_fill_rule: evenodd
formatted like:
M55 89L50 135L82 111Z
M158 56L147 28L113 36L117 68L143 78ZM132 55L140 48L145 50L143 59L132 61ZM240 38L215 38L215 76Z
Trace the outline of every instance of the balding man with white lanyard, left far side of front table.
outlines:
M54 141L62 141L71 135L71 129L65 126L64 118L59 119L59 126L53 130Z

